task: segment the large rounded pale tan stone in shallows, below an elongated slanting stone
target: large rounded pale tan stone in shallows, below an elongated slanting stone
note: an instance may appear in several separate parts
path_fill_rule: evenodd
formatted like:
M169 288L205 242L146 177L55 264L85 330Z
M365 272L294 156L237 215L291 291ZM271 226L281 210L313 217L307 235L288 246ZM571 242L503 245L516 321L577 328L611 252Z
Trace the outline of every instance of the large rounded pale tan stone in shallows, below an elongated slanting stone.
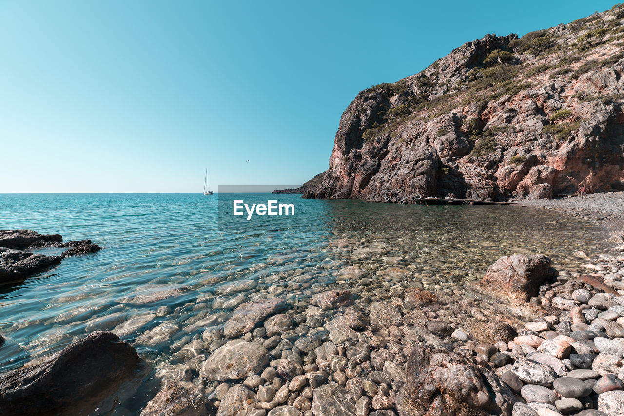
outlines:
M269 352L255 342L235 339L215 350L203 363L200 377L207 380L240 380L258 374L269 362Z

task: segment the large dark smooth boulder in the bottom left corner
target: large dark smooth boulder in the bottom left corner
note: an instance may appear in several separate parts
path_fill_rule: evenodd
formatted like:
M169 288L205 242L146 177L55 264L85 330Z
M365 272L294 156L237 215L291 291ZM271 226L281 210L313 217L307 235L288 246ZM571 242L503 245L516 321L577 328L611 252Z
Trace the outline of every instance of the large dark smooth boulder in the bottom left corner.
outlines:
M103 415L134 394L146 371L134 348L115 334L93 332L2 375L0 416Z

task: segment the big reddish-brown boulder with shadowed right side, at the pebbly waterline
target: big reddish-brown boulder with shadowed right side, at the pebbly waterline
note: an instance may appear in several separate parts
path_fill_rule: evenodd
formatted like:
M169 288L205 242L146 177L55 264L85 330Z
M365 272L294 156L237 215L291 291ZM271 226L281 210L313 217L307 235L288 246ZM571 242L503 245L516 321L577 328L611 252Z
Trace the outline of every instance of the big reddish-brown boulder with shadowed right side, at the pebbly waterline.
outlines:
M537 296L544 281L557 276L551 263L544 254L502 256L487 269L482 288L511 299L528 301Z

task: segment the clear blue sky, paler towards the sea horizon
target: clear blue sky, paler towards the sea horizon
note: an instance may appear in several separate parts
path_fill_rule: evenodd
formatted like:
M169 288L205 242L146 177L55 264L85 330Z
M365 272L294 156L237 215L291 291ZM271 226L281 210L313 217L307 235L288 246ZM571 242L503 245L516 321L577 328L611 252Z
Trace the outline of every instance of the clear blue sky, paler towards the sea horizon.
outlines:
M613 4L1 1L0 193L300 184L359 90Z

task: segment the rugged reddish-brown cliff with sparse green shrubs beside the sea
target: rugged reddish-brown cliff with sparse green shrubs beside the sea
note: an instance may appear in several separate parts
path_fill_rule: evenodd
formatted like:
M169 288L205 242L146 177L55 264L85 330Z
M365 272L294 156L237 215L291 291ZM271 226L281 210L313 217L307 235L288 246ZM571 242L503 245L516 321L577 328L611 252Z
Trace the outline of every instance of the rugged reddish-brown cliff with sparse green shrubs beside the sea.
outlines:
M359 92L306 198L502 200L624 190L624 8L468 42Z

